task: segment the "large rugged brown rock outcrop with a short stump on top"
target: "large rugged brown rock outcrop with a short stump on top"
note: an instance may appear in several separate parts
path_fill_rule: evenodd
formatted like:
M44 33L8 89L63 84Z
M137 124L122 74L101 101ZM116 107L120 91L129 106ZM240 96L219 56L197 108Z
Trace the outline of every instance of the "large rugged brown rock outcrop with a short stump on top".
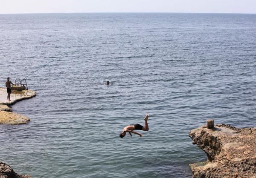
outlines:
M189 165L194 178L256 178L256 127L204 126L192 129L189 137L208 157Z

